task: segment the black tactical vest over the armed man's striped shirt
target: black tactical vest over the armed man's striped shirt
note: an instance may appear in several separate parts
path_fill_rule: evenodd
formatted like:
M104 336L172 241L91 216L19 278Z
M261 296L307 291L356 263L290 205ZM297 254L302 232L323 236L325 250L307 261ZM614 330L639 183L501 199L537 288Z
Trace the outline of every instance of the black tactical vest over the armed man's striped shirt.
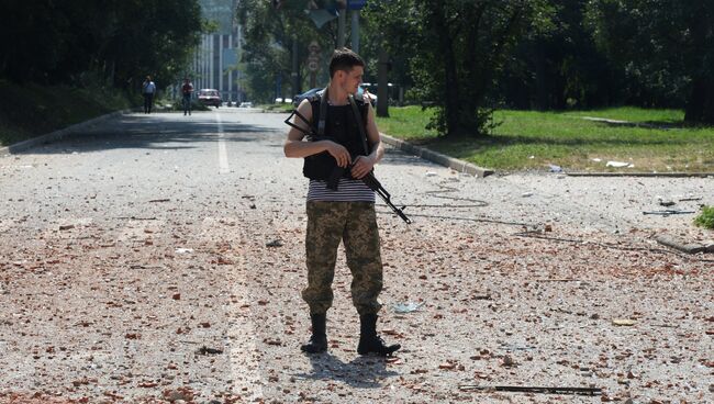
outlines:
M367 125L367 104L361 96L355 96L355 103L361 115L362 124ZM320 94L310 100L312 106L312 128L317 133L317 123L320 122ZM365 153L365 146L357 126L355 113L352 105L333 106L327 104L327 113L325 120L324 137L330 141L338 143L349 152L353 160L357 156L368 155L371 150ZM369 148L369 142L367 142ZM337 161L327 152L322 152L316 155L305 157L305 162L302 167L302 173L312 180L326 180L330 178L332 171L337 167ZM345 170L345 176L349 177L349 170Z

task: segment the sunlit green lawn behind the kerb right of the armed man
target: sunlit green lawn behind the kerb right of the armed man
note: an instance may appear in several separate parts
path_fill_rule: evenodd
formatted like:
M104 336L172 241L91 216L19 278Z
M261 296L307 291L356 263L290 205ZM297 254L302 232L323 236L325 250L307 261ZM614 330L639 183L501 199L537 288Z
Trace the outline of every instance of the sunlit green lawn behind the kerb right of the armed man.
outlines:
M620 108L593 111L497 111L501 122L492 135L445 138L424 126L433 111L420 106L391 108L378 117L379 128L394 137L426 145L477 166L501 169L547 170L558 165L569 171L714 171L714 127L683 127L676 110ZM637 127L583 120L607 117L634 123L668 125ZM601 159L601 161L594 161ZM609 160L633 168L606 168Z

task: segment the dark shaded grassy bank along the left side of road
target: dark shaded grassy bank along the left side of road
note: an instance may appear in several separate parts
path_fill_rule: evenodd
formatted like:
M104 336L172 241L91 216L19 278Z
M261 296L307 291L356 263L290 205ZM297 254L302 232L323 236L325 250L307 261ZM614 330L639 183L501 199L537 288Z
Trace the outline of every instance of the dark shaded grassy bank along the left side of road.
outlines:
M125 94L102 88L16 85L0 80L0 146L131 106Z

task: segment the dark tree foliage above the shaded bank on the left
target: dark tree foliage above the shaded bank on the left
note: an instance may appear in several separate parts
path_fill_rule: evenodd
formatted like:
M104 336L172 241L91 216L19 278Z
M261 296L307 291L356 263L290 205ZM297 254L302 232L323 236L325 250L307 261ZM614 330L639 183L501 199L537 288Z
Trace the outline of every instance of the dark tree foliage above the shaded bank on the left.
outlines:
M202 29L196 0L7 0L0 76L76 83L87 72L119 87L169 82ZM136 82L138 81L138 82Z

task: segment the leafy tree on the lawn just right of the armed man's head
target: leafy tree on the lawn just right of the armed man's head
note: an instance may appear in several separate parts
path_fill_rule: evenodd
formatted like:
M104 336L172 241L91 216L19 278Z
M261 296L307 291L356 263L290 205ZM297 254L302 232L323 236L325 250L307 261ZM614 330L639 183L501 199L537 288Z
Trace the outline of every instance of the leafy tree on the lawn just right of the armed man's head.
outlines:
M372 11L406 38L417 97L434 102L432 126L448 136L488 132L510 52L551 13L545 0L394 0Z

